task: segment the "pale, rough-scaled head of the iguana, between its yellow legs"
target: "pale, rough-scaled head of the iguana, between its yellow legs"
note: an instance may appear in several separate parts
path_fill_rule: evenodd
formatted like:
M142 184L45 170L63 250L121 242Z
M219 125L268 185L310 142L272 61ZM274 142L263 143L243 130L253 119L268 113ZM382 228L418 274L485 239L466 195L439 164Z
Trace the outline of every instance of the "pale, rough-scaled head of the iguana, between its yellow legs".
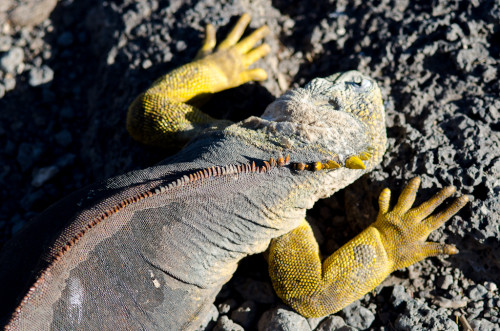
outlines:
M286 92L261 116L260 128L300 146L335 154L341 164L361 157L367 169L386 149L385 115L377 83L357 71L316 78ZM293 148L295 147L295 148Z

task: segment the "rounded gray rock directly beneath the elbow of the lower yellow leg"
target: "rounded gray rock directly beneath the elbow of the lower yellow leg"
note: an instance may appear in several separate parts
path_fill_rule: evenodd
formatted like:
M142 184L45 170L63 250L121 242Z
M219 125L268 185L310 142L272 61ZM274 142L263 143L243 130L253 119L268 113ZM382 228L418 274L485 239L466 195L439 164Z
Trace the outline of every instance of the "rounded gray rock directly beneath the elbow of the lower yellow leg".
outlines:
M259 331L311 331L307 320L286 306L279 306L262 314Z

